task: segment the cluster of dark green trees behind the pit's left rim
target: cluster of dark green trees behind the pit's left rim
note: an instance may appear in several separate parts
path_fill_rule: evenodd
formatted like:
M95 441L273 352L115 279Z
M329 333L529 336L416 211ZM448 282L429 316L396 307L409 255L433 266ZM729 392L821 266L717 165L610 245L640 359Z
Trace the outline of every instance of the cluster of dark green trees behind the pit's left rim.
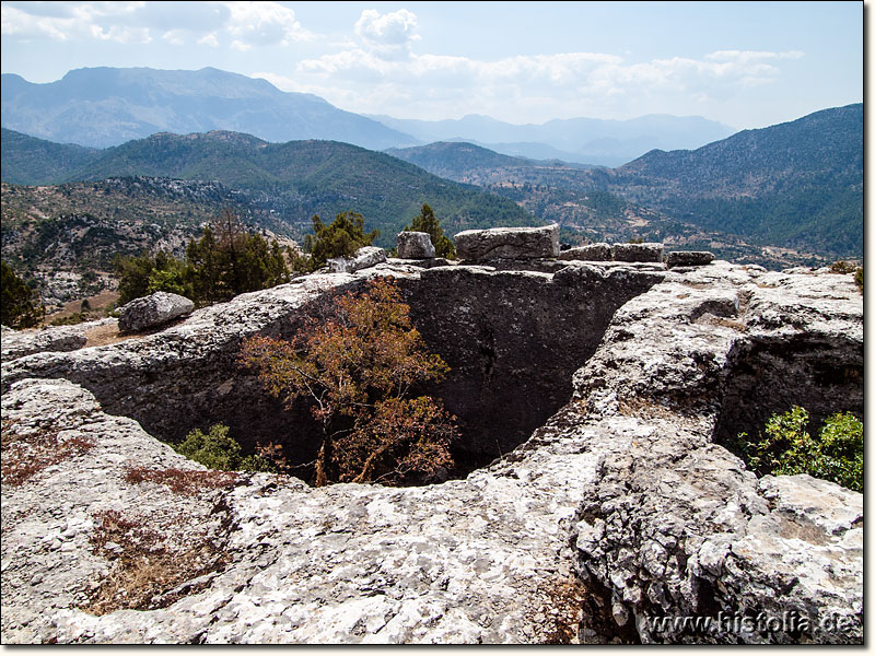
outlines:
M189 241L185 260L164 253L119 257L116 271L119 304L154 292L173 292L207 305L291 278L279 244L247 232L230 210L205 226L200 239Z

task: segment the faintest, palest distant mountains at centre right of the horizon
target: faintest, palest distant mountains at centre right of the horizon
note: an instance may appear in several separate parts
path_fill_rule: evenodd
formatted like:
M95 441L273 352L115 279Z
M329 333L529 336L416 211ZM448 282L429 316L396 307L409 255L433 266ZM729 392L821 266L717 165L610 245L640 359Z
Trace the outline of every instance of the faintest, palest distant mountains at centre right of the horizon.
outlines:
M423 142L469 141L509 155L617 166L653 149L698 148L735 130L700 116L648 115L629 120L556 119L513 125L488 116L415 120L371 115Z

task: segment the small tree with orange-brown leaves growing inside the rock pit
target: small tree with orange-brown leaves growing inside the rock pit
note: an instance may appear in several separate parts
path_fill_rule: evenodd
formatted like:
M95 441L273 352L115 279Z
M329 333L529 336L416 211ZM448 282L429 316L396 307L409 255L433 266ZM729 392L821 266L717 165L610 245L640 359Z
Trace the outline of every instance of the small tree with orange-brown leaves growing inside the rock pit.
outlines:
M453 418L415 386L448 371L425 351L393 281L337 298L324 320L311 319L291 342L244 340L241 362L290 406L306 399L322 425L316 485L411 484L452 465Z

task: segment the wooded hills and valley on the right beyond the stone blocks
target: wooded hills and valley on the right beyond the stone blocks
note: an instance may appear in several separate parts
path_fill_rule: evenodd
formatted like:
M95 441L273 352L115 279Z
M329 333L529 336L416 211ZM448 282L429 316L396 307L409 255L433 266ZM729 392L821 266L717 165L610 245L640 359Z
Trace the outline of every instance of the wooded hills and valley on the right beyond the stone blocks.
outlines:
M639 234L632 236L667 241L682 236L687 245L725 257L749 253L728 247L724 238L714 238L718 234L734 235L750 246L822 257L863 255L862 104L744 130L696 150L654 150L612 169L509 157L470 143L439 142L388 152L443 177L511 198L545 221L574 223L594 238L593 227L615 238L634 229ZM629 204L617 204L616 198ZM600 219L593 223L598 207L612 208L612 223ZM676 224L645 229L642 221L652 222L640 208L655 210ZM626 226L618 221L622 216L628 219ZM701 233L690 234L689 226Z

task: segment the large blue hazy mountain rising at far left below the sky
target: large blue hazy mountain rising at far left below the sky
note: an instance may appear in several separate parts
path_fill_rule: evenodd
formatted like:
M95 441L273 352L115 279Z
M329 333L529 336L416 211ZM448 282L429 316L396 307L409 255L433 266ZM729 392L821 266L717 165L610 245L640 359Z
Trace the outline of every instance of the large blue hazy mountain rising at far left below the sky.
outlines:
M2 127L61 143L106 148L155 132L233 130L273 142L346 141L370 149L416 140L318 96L214 68L88 68L33 84L2 75Z

